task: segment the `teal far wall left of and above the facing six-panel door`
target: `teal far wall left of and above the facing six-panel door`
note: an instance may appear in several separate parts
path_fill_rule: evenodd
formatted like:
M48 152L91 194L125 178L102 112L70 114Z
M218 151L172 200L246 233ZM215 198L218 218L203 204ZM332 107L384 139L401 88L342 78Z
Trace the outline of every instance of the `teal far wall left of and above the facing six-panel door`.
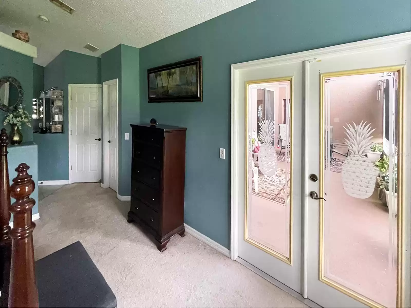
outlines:
M101 59L65 50L44 68L44 87L64 91L64 133L34 134L41 181L69 179L69 83L101 83Z

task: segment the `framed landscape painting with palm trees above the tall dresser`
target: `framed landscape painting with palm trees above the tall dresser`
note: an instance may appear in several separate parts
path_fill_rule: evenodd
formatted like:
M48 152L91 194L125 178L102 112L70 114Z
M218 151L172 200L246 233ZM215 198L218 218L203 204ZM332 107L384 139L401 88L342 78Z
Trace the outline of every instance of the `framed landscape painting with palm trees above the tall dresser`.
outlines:
M148 102L203 101L202 57L147 70Z

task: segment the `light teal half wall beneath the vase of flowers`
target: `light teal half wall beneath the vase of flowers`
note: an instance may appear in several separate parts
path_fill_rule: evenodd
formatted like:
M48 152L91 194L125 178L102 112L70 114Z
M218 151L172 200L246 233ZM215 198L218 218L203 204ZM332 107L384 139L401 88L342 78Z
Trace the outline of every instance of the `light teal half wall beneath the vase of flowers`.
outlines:
M30 195L36 201L35 206L32 209L32 214L39 212L39 186L38 183L38 163L37 163L37 145L33 141L23 142L21 145L9 145L7 147L7 161L9 164L9 180L12 184L13 179L17 176L17 172L14 171L21 163L26 163L30 169L28 174L32 176L32 180L35 183L35 189ZM15 201L12 198L12 203ZM13 218L11 219L13 221Z

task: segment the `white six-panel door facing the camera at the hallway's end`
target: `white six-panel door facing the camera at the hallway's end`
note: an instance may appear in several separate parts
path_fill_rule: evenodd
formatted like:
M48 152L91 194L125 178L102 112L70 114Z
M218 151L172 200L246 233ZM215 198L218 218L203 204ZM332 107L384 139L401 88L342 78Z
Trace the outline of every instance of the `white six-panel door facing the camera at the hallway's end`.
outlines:
M71 87L71 179L101 179L102 96L99 85Z

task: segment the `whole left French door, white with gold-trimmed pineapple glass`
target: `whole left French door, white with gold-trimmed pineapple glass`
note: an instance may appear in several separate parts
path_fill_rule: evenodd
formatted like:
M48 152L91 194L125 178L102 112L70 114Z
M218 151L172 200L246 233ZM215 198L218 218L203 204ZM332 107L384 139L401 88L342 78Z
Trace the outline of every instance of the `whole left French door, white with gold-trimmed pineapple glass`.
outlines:
M238 140L245 181L238 257L301 293L302 63L245 69L238 77L245 126Z

